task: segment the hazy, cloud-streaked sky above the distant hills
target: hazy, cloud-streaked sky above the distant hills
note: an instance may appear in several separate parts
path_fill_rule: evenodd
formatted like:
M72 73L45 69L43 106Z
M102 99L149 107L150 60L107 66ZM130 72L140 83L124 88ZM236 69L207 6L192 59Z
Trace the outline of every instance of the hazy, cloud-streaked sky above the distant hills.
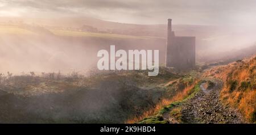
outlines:
M0 0L0 16L91 16L122 23L255 25L255 0Z

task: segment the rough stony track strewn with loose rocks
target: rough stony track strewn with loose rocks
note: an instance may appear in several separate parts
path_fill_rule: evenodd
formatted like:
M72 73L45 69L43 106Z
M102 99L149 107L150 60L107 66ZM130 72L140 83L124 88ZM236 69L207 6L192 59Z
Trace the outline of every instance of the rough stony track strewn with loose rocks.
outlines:
M170 123L245 123L241 114L232 107L226 106L219 100L222 82L212 81L214 86L207 88L205 83L200 85L201 91L193 98L179 105L181 107L180 121L169 116Z

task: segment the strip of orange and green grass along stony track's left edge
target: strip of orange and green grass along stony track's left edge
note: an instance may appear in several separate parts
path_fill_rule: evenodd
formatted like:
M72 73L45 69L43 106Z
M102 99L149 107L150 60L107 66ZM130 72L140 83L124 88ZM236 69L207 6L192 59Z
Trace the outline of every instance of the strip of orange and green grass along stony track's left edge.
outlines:
M191 71L185 73L179 79L164 83L162 87L166 92L162 99L160 99L155 106L151 106L142 111L143 113L141 115L131 117L126 123L166 124L167 121L163 120L163 114L170 111L176 104L179 104L188 99L189 96L192 96L193 92L198 90L198 79L199 73Z

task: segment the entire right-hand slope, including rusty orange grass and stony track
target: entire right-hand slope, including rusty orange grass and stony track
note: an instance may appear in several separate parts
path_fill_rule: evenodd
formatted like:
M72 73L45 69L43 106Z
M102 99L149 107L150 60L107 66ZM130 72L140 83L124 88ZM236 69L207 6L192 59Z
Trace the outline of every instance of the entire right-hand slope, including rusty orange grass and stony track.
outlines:
M201 81L138 123L255 123L256 57L203 71Z

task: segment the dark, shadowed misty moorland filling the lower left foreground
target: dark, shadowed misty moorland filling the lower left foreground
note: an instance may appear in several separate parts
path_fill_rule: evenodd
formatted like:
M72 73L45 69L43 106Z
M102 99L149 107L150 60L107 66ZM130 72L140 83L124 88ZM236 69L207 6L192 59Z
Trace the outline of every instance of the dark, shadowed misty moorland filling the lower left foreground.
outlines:
M161 68L147 71L42 75L1 74L2 123L124 123L158 107L195 78Z

